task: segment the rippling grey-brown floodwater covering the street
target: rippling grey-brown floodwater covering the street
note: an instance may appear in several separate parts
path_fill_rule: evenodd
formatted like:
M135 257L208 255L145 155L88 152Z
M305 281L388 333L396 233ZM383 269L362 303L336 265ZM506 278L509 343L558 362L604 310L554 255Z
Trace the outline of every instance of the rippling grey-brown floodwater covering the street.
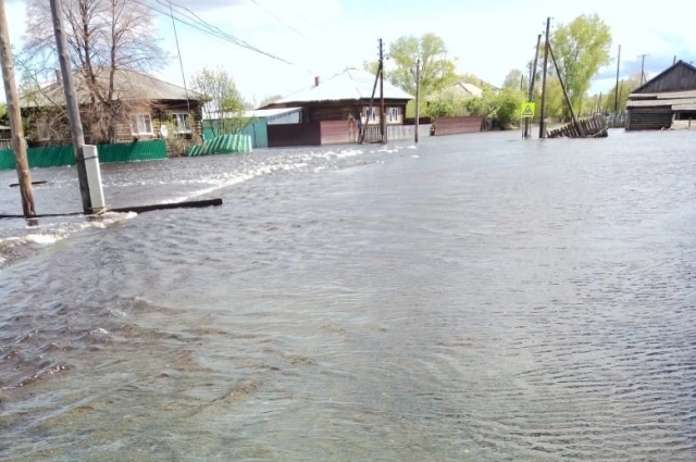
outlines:
M0 221L0 460L696 460L696 134L519 135L103 165L224 204Z

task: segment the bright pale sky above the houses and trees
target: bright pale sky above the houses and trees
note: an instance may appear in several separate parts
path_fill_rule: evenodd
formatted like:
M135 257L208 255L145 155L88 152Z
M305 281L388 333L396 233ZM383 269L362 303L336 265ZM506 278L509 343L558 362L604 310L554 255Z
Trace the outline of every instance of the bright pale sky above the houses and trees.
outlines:
M157 1L149 0L157 5ZM547 16L555 25L580 14L597 13L610 27L616 57L621 45L621 76L641 70L649 75L672 64L674 55L696 62L696 7L672 0L666 8L642 8L635 1L608 0L174 0L202 20L258 49L241 49L177 23L184 74L204 66L222 67L244 97L287 95L308 87L313 77L328 78L347 66L377 57L377 39L388 43L402 35L435 33L443 37L458 71L501 85L512 68L533 59L537 34ZM669 7L668 7L669 5ZM23 0L8 1L10 33L20 46L24 34ZM161 8L161 7L159 7ZM174 58L159 76L183 85L171 18L157 15L161 46ZM388 65L388 64L387 64ZM616 79L616 61L593 84L607 92Z

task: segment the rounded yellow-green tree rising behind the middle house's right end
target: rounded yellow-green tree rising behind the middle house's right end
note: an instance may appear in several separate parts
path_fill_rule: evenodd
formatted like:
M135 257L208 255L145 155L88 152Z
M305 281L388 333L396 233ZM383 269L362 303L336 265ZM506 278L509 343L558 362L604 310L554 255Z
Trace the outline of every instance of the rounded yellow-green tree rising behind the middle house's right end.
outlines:
M388 58L394 68L385 72L385 77L410 95L415 95L415 64L419 58L421 95L431 95L457 82L455 62L447 58L445 41L435 34L425 34L421 38L398 38L389 45Z

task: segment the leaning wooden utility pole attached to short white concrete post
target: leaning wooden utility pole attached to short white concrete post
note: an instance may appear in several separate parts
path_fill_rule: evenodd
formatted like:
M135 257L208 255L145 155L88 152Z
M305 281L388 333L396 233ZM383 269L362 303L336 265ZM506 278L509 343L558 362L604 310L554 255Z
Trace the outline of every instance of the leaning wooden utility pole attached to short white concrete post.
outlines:
M77 167L79 195L83 199L83 211L85 214L91 214L91 198L89 196L87 168L85 167L85 157L83 153L85 134L83 132L83 122L79 118L79 105L77 103L75 86L73 84L73 71L71 68L67 38L65 37L65 26L63 25L63 8L61 5L61 0L50 1L51 15L53 16L53 29L55 32L55 46L58 48L58 60L61 64L63 90L65 92L65 105L67 108L67 118L70 120L70 133L75 148L75 166Z

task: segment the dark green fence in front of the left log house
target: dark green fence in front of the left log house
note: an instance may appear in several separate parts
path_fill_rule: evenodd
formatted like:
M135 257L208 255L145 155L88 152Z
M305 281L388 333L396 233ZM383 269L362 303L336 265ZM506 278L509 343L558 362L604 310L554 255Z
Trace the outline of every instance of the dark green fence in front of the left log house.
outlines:
M99 163L133 161L153 161L166 159L166 143L162 139L152 141L99 145ZM29 167L66 166L75 164L75 150L72 146L27 149ZM0 168L15 168L14 151L0 151Z

